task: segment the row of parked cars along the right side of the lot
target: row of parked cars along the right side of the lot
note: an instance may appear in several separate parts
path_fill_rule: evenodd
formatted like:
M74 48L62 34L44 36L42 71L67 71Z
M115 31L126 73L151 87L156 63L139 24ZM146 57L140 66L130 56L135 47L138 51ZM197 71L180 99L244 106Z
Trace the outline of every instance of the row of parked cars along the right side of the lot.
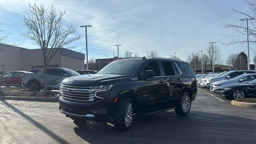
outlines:
M219 74L198 74L197 86L218 92L228 99L256 96L256 71L234 70Z

